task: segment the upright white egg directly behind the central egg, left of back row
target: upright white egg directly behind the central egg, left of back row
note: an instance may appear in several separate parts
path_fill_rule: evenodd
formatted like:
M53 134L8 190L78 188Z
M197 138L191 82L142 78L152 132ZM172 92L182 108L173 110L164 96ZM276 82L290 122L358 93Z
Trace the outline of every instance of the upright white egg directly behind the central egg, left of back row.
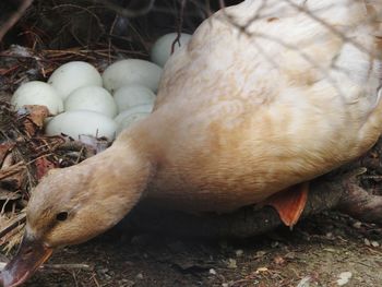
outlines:
M64 100L74 89L82 86L103 86L103 79L92 64L82 61L68 62L59 67L49 77L51 84Z

